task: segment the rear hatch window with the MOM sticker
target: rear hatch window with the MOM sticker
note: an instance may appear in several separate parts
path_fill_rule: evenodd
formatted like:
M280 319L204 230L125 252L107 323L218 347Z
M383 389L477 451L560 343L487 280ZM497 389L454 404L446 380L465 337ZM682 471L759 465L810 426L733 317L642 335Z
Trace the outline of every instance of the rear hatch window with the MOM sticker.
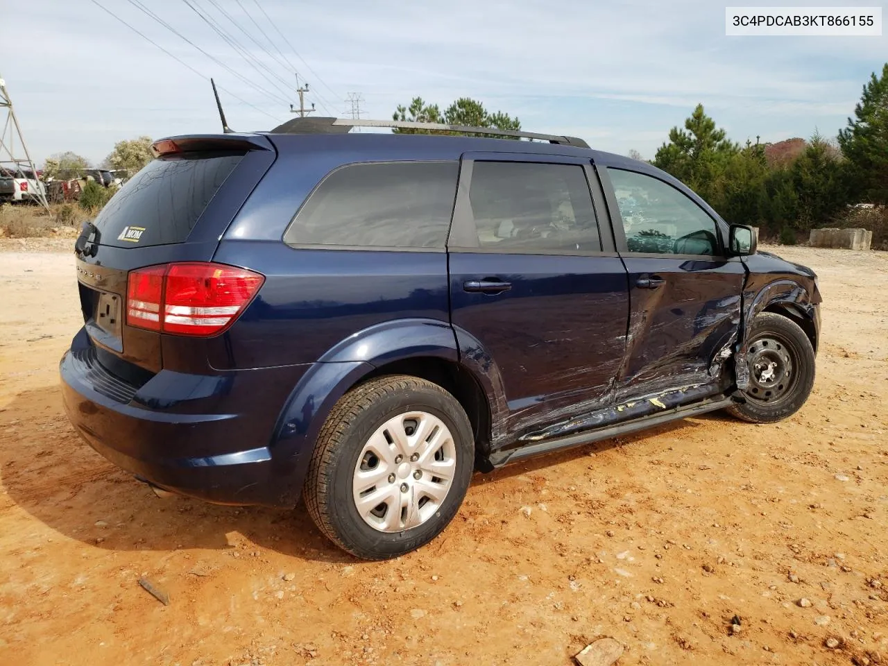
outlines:
M144 248L185 242L242 157L242 153L189 153L148 163L95 219L97 244Z

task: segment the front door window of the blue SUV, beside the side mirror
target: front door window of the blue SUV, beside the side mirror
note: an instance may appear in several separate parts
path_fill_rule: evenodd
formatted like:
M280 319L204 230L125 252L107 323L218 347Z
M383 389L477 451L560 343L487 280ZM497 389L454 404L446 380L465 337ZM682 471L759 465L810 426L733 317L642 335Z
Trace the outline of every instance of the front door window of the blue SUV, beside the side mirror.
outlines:
M630 252L718 255L718 227L694 201L662 180L607 169Z

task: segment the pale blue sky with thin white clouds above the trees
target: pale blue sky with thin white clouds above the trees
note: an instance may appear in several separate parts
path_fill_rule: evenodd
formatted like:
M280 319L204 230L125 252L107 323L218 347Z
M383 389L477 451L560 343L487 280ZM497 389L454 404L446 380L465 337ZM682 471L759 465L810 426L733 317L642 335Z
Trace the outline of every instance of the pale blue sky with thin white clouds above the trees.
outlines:
M711 0L31 6L0 20L0 77L38 164L67 150L98 163L140 135L218 131L210 76L234 130L271 129L298 104L296 73L315 115L345 116L351 92L363 99L361 117L379 119L417 95L441 107L468 96L517 115L527 131L646 158L697 103L741 143L834 137L888 60L888 35L725 36L725 4Z

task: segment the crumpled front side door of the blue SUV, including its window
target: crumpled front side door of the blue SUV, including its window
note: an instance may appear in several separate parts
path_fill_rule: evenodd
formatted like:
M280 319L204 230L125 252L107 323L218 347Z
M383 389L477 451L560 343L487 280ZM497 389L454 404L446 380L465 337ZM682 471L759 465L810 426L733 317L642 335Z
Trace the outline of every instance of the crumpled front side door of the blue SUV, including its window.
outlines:
M629 272L622 392L713 381L710 364L738 329L745 269L725 256L715 218L654 174L599 166Z

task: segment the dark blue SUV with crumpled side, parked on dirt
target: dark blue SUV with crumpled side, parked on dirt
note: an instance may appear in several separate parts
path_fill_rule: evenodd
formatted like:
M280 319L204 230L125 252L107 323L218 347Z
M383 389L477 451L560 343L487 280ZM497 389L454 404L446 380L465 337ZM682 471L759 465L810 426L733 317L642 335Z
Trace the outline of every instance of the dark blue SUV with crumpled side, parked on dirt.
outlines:
M815 275L675 178L580 139L358 123L426 133L163 139L84 226L67 414L158 494L302 496L385 559L474 470L805 402Z

